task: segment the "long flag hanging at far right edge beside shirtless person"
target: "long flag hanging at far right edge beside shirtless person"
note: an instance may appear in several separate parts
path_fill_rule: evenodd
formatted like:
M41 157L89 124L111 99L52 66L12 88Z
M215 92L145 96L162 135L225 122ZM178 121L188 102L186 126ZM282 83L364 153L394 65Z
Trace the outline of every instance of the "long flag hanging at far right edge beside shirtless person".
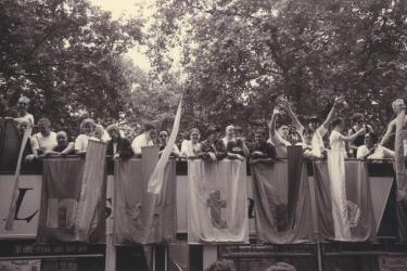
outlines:
M394 168L397 183L397 222L400 240L407 240L407 169L405 164L403 141L407 139L407 131L403 126L406 119L406 113L403 111L396 118L396 137L394 143Z

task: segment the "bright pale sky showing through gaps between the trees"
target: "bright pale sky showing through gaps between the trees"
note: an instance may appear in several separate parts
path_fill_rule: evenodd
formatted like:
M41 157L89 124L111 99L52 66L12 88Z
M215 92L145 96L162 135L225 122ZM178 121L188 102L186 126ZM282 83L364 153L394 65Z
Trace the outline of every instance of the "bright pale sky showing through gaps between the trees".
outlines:
M143 16L151 16L154 9L151 8L154 4L154 0L89 0L93 5L98 5L103 10L111 11L113 18L117 20L122 16L131 17L142 14ZM130 49L127 55L132 59L136 65L142 69L150 69L149 59L145 56L143 51L145 48L133 48Z

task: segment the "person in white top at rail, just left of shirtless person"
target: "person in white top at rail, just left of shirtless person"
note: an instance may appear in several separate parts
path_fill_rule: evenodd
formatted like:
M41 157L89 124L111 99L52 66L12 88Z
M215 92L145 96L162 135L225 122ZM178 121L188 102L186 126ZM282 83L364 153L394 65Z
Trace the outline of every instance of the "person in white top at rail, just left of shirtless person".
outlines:
M378 136L374 132L365 133L365 144L357 149L358 159L384 159L394 158L394 152L378 145Z

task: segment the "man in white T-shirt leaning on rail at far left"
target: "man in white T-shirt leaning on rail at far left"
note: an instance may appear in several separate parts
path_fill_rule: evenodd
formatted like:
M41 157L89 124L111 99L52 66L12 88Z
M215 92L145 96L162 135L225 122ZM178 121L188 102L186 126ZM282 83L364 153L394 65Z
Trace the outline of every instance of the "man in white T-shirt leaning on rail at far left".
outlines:
M52 151L58 146L56 133L51 130L51 121L48 118L40 118L37 126L39 132L30 138L33 154L36 157L44 155L48 151Z

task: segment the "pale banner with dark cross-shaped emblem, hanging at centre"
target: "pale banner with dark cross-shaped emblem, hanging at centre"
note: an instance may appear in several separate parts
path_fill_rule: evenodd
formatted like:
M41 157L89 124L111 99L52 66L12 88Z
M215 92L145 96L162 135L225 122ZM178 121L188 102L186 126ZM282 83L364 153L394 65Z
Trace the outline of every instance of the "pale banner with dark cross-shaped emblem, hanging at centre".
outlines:
M188 243L247 243L246 163L188 162Z

